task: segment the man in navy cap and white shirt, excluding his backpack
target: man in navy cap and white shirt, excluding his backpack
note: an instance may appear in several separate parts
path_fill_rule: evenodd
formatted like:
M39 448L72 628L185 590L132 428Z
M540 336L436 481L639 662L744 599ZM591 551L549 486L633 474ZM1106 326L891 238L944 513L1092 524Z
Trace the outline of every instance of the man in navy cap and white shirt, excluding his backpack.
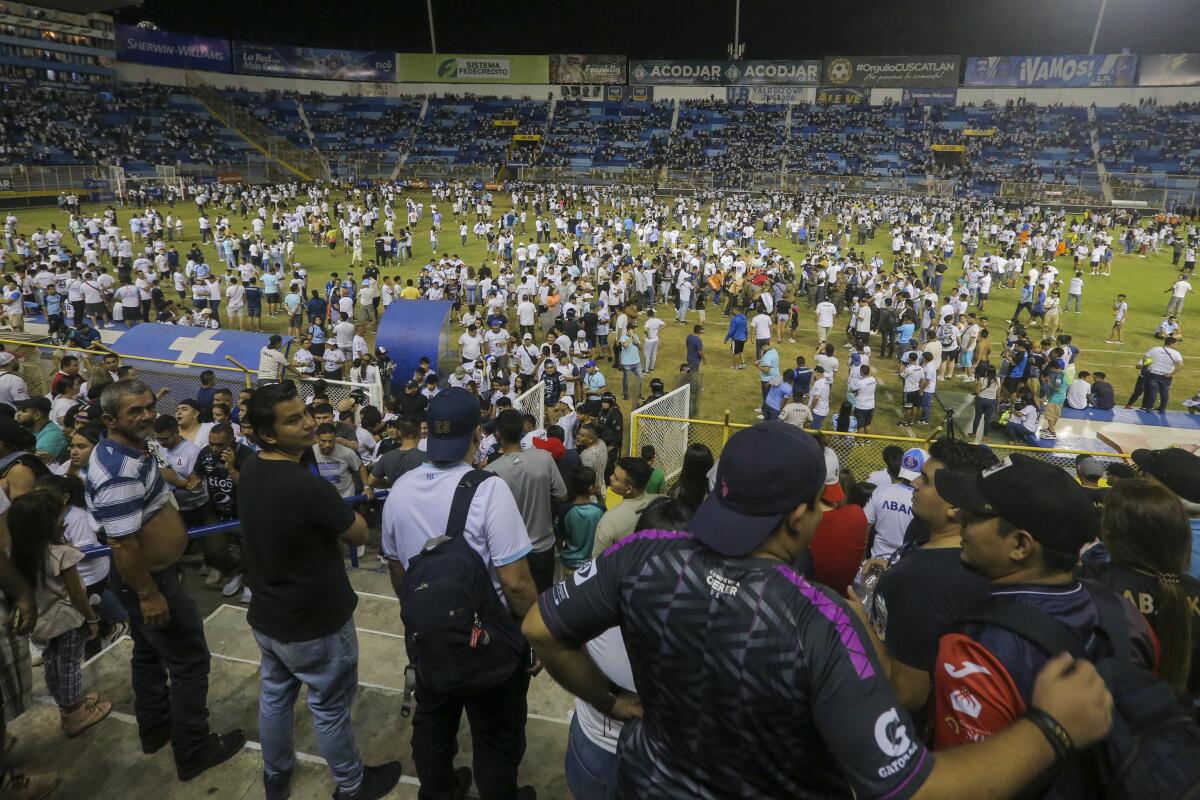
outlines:
M425 543L445 533L455 489L473 468L482 440L479 399L466 389L439 391L426 409L428 461L402 475L383 507L384 558L398 599L408 563ZM479 553L496 594L520 619L538 597L527 557L533 551L512 491L504 481L484 481L475 489L463 539ZM517 790L517 768L524 757L526 691L529 674L520 668L504 684L467 697L439 697L416 684L413 717L413 760L421 796L463 796L470 770L454 768L458 723L470 717L475 783L482 796L526 798Z

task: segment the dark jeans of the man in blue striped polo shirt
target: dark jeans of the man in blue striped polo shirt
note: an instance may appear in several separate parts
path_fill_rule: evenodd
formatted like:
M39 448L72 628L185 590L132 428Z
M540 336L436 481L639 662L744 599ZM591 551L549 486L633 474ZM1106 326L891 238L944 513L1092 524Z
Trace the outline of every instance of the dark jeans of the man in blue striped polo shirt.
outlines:
M209 645L196 601L184 591L179 567L169 566L151 577L170 613L164 627L145 626L138 595L121 581L115 564L109 584L130 615L138 735L152 741L169 728L175 764L182 765L198 758L208 744Z

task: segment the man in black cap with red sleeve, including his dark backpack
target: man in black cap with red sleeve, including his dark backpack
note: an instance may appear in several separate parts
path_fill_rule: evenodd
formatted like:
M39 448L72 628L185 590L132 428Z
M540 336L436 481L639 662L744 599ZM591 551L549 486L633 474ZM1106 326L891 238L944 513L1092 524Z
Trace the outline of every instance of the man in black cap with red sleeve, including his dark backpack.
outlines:
M1157 648L1145 618L1108 588L1075 578L1099 515L1064 470L1014 453L982 474L941 469L937 493L959 510L962 565L991 597L942 636L934 667L935 750L988 739L1019 718L1051 735L1032 706L1038 670L1069 652L1096 664L1114 697L1114 727L1094 750L1060 738L1060 771L1034 796L1184 796L1200 786L1200 728L1151 674ZM1114 771L1121 765L1120 771ZM1104 786L1102 786L1102 782Z

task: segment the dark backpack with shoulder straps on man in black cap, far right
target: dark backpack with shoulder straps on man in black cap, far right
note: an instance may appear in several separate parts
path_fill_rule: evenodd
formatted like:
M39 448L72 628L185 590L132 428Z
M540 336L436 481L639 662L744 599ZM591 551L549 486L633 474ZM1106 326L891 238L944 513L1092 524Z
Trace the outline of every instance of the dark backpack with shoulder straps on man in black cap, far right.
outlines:
M1112 729L1022 796L1142 800L1200 798L1200 724L1171 687L1133 661L1122 599L1084 582L1096 601L1104 652L1090 657L1080 637L1050 614L992 597L959 622L986 622L1016 633L1049 656L1070 652L1096 664L1112 693Z

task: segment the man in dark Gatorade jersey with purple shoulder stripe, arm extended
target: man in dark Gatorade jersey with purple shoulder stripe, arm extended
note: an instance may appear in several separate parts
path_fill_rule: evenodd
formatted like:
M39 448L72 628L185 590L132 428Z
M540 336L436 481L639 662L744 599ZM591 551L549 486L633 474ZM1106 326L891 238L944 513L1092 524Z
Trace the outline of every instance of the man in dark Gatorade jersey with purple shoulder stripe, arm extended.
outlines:
M523 628L551 675L631 720L622 796L1007 796L1052 764L1033 722L936 759L926 751L853 613L790 566L824 513L824 480L809 433L739 431L692 533L635 533L530 609ZM638 694L584 650L617 625ZM1036 703L1080 744L1108 729L1111 698L1091 664L1057 660Z

